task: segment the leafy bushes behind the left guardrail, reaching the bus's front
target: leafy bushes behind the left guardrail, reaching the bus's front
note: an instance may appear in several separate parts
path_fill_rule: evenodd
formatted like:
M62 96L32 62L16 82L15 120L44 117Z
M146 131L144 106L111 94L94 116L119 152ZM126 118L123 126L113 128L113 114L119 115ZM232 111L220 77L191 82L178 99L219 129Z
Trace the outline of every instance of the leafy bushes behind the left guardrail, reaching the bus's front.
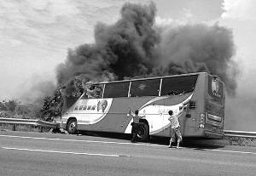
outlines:
M52 96L36 99L32 104L21 104L16 99L0 102L0 117L54 121L61 115L62 108L65 108L62 97L78 99L84 91L84 85L83 78L74 77L67 82L62 93L61 89L56 89ZM72 102L74 103L74 101Z

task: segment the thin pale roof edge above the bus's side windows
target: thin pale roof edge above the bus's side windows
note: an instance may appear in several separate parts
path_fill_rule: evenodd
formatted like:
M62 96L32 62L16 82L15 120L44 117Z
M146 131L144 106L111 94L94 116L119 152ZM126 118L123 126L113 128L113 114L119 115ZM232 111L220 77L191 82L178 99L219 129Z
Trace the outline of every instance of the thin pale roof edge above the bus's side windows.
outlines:
M158 78L165 78L165 77L183 77L183 76L192 76L192 75L199 75L199 74L210 75L207 72L195 72L195 73L187 73L187 74L181 74L181 75L169 75L169 76L161 76L161 77L147 77L147 78L137 78L137 79L126 79L126 80L112 81L112 82L98 82L98 83L94 83L94 84L96 85L96 84L106 84L106 83L113 83L113 82L135 82L135 81L141 81L141 80L150 80L150 79L158 79Z

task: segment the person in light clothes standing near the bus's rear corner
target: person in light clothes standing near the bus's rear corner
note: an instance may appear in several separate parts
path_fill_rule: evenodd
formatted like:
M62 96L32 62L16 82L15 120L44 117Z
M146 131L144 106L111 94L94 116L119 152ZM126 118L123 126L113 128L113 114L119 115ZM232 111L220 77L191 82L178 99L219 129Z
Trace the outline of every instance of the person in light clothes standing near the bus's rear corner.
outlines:
M177 149L179 149L179 143L182 141L183 137L182 134L180 133L180 125L177 119L177 116L173 115L173 111L168 111L170 117L168 120L171 122L171 139L170 139L170 145L168 146L169 148L172 148L172 142L175 142L176 136L177 135Z

